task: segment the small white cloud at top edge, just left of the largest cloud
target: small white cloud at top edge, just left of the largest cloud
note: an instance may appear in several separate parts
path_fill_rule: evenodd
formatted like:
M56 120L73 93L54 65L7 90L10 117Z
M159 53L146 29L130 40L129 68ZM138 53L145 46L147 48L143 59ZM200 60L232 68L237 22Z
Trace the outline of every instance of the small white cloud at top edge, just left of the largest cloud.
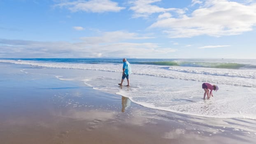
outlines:
M151 5L152 3L155 2L160 2L161 0L135 0L135 1L130 1L129 4L132 6L130 7L130 10L134 11L133 17L148 17L151 14L154 13L166 13L166 12L177 12L179 14L184 14L184 10L182 9L177 9L177 8L162 8L158 7L156 5Z

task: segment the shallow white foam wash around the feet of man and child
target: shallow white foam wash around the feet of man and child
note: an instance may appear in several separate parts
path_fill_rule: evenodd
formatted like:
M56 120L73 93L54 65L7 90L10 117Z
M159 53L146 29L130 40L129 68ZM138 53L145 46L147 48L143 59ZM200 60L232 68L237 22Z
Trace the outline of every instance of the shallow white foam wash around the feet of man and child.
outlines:
M130 81L130 87L119 87L119 79L96 76L85 83L97 90L126 96L144 107L194 116L256 119L256 88L221 84L221 90L213 92L214 97L202 100L204 91L198 81L140 75L132 75Z

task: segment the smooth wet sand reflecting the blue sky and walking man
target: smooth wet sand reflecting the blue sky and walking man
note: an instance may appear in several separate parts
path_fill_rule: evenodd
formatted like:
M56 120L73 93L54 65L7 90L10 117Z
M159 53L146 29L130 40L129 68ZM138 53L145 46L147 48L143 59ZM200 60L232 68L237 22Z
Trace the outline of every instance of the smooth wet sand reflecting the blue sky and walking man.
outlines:
M1 144L256 143L255 120L149 109L82 82L21 71L30 66L0 68Z

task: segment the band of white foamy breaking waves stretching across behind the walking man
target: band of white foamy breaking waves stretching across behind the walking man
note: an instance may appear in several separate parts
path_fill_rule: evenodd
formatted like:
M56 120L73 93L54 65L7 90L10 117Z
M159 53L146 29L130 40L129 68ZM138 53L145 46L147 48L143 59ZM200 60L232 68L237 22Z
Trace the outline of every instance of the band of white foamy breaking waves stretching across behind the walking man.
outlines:
M96 70L121 72L121 64L84 64L84 63L41 63L25 60L0 60L2 63L16 63L40 67ZM256 88L256 70L230 70L205 67L163 67L158 65L133 65L133 74L184 79L192 81L246 86Z

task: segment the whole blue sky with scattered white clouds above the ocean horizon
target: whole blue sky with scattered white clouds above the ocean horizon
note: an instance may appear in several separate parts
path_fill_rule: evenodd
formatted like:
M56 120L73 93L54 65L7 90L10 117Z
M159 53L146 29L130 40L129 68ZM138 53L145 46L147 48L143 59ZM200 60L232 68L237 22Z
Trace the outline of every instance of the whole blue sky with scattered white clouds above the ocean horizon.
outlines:
M0 58L256 58L256 0L0 0Z

